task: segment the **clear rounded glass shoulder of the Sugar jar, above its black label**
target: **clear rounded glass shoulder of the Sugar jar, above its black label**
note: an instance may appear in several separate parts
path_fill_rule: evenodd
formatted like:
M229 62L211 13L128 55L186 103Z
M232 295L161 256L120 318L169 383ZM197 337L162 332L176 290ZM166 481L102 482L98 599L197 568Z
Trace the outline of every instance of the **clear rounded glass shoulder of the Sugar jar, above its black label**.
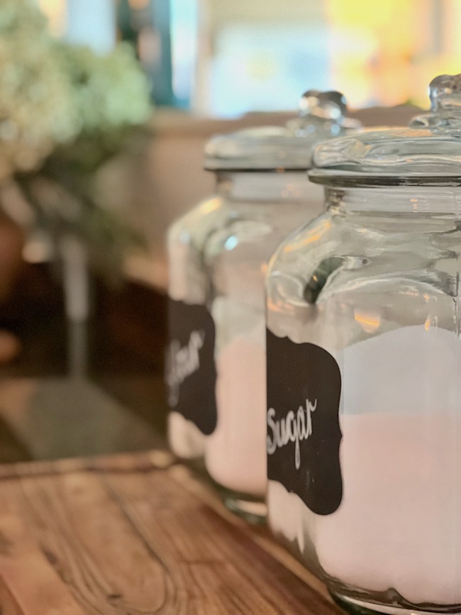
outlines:
M326 214L279 246L267 272L269 321L290 314L365 329L403 321L457 321L461 231L453 221ZM372 316L370 316L372 315ZM409 315L409 316L405 316Z

